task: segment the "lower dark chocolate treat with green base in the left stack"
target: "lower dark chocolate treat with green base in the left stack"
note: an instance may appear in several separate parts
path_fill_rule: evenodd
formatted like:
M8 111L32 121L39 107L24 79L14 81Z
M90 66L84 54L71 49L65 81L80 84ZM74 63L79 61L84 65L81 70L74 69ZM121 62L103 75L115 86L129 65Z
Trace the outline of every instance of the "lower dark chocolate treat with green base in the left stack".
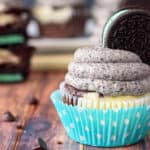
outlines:
M0 49L0 83L21 82L27 79L34 48L26 45Z

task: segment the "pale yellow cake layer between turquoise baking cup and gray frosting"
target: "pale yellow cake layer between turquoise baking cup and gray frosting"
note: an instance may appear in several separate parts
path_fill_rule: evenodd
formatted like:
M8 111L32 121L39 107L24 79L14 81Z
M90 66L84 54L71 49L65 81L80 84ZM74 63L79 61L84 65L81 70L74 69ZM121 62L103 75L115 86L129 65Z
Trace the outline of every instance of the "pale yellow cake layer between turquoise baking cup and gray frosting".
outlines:
M89 109L126 109L150 105L150 94L143 96L99 97L97 93L88 93L78 99L78 106Z

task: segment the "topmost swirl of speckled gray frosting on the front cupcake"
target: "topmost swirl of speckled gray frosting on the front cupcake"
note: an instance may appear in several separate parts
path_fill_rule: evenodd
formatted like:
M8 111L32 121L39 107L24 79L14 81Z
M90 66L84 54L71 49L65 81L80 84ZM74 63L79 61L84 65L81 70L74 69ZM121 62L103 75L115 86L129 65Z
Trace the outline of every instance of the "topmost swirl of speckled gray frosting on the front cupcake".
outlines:
M74 61L87 63L131 63L141 62L141 59L138 55L129 51L95 46L77 49L74 54Z

